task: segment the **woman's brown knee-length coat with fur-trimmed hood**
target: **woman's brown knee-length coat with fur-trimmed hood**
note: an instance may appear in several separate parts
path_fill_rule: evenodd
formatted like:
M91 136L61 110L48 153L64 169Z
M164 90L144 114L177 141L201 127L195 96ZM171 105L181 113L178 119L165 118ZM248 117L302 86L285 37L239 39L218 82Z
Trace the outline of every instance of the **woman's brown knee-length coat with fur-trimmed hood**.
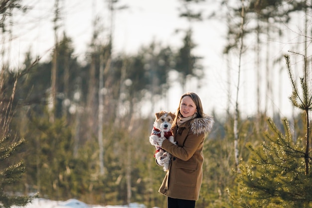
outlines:
M213 118L194 118L172 129L177 146L164 140L162 149L172 155L171 164L159 193L175 199L198 200L202 182L203 144Z

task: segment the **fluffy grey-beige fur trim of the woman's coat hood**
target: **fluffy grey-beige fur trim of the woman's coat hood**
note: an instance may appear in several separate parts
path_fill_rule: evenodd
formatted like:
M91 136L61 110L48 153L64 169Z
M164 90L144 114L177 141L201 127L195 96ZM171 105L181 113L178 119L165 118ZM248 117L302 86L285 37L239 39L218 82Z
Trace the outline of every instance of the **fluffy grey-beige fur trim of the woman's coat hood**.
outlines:
M193 134L209 133L212 130L214 120L212 116L194 118L190 121L190 130Z

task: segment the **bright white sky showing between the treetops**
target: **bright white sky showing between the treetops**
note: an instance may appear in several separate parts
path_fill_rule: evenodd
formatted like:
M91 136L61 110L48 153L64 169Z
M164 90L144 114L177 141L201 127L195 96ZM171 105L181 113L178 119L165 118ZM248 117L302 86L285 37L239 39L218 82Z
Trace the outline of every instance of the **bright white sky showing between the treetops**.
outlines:
M31 6L26 15L14 17L16 24L12 27L12 41L7 41L6 47L10 49L7 59L11 66L21 68L20 61L25 51L31 49L34 54L42 57L42 61L50 58L51 49L54 44L53 32L53 4L51 0L23 0ZM207 0L202 8L209 13L216 9L218 1ZM88 44L94 30L93 20L100 17L103 25L109 26L109 15L104 0L59 0L61 10L60 30L65 31L67 36L72 38L75 47L75 55L83 62L85 53L88 51ZM189 23L178 17L178 9L181 6L178 0L120 0L119 5L127 5L128 8L118 11L115 14L113 29L113 53L114 54L135 54L142 46L149 45L152 41L160 42L164 46L179 47L182 42L182 33L176 33L176 29L185 29ZM202 64L205 68L205 77L201 89L196 83L190 81L186 84L186 91L196 92L203 103L204 112L211 114L214 110L217 113L225 113L227 108L228 80L226 77L227 64L223 48L226 44L226 22L225 20L210 19L203 22L194 22L193 40L197 44L194 53L203 56ZM7 37L9 39L9 37ZM103 37L105 40L105 37ZM265 38L263 41L267 41ZM271 58L275 59L281 52L285 53L288 47L285 44L272 42L278 48L272 51ZM255 89L248 89L246 86L256 82L253 74L254 56L247 55L243 60L243 73L240 82L239 101L240 108L245 116L255 112ZM231 74L232 99L231 107L234 107L235 89L237 87L237 63L233 63ZM283 90L278 95L272 95L274 108L278 108L282 116L289 116L292 112L288 96L291 94L287 74L283 72ZM275 76L275 75L273 75ZM168 89L169 98L159 101L157 110L174 112L178 105L180 96L184 93L178 84L175 73L171 73L170 82L173 87ZM262 84L265 87L265 83ZM263 95L271 96L271 95ZM263 102L263 101L261 101ZM144 108L143 108L144 109ZM150 112L150 109L145 109Z

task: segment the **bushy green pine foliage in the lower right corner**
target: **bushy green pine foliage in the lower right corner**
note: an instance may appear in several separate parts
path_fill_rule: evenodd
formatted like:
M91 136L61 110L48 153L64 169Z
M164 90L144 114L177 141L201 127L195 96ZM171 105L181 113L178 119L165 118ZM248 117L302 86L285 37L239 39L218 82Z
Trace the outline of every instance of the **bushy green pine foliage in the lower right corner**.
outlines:
M283 120L285 134L268 119L270 132L261 146L247 147L249 161L241 165L242 207L304 208L312 201L312 177L306 175L304 139L296 142L289 122Z

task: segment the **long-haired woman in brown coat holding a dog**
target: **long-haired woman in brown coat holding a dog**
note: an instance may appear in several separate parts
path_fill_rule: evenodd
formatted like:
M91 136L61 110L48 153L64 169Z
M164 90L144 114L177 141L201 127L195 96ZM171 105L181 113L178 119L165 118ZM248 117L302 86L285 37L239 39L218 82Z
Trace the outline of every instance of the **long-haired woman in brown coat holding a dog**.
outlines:
M171 131L177 145L168 140L162 149L172 155L171 164L159 188L167 196L168 208L194 208L202 182L203 144L213 118L203 113L200 98L189 92L181 96Z

